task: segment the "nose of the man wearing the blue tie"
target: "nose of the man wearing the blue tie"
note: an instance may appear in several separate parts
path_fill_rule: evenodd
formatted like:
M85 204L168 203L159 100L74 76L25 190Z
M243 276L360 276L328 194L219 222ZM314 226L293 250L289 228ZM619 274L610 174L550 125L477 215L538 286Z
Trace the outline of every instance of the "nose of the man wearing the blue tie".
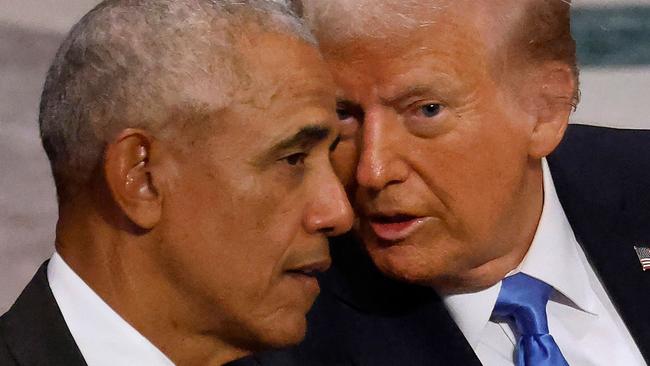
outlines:
M380 191L406 180L408 166L399 158L399 150L408 147L402 146L400 134L394 113L379 110L366 114L361 127L357 166L360 187Z

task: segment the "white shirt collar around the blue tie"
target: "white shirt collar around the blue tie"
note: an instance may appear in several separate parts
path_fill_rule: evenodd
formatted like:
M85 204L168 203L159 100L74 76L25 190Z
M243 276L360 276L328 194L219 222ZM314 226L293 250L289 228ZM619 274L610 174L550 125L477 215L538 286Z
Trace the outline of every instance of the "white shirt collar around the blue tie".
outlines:
M542 215L528 253L511 274L524 272L542 280L570 300L570 306L595 314L595 295L578 256L579 244L555 192L546 159L542 159L542 171ZM501 282L498 282L483 291L443 298L449 313L473 348L477 346L481 332L490 321L500 290Z

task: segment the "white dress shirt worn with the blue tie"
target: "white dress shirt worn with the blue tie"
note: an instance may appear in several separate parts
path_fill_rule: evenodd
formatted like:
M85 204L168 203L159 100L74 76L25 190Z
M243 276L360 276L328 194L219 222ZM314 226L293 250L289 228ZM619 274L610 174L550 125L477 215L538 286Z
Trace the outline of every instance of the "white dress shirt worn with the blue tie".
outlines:
M550 334L569 365L646 365L603 285L578 244L555 192L546 160L544 206L533 242L519 267L555 290L547 305ZM511 366L517 339L508 323L490 320L501 282L444 299L486 366Z

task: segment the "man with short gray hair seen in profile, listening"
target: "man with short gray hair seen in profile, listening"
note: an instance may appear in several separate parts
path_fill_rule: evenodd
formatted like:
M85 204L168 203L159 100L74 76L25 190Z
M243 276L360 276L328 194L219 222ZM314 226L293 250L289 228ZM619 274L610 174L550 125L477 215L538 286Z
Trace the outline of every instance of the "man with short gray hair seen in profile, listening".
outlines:
M56 252L2 365L222 365L299 342L352 225L336 88L290 4L108 0L61 46L43 145Z

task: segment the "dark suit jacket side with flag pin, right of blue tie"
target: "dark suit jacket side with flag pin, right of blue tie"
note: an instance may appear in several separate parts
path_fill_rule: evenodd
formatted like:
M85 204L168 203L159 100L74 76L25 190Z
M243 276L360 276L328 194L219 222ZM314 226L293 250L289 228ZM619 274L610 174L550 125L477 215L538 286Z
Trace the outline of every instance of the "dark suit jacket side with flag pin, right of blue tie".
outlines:
M570 126L549 165L564 211L610 299L650 362L650 134ZM633 153L631 153L633 152Z

